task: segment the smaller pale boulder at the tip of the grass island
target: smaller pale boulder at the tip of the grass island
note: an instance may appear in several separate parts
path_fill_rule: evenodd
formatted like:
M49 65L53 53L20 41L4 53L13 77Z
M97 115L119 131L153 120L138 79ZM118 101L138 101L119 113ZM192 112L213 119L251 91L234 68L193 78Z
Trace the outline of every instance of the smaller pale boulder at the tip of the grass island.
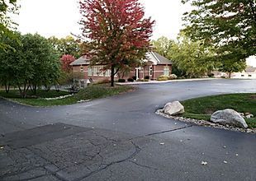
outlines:
M184 106L178 101L167 103L164 105L164 114L177 115L184 113Z

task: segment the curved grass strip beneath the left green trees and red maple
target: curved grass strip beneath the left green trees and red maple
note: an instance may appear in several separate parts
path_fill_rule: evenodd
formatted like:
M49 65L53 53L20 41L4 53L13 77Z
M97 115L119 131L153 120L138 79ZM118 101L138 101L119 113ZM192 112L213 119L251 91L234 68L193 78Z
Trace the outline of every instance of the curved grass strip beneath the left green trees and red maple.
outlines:
M44 98L55 98L62 95L69 95L67 91L56 90L38 90L36 95L32 95L31 91L28 91L27 97L25 99L21 98L18 90L10 90L6 93L4 90L0 90L0 96L7 98L21 104L28 104L33 106L52 106L52 105L65 105L65 104L75 104L79 100L95 100L111 95L118 95L123 92L133 90L131 86L115 86L111 87L106 84L92 85L85 89L79 90L78 94L66 97L59 100L44 100Z

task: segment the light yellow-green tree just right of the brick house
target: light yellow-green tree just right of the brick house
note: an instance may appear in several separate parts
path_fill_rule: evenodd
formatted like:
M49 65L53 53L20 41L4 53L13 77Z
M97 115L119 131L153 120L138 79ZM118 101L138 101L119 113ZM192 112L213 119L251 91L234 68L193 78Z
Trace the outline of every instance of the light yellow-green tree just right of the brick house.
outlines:
M211 60L213 53L212 49L204 47L200 41L193 42L181 35L178 42L173 44L170 57L178 67L178 73L184 72L185 77L201 77L215 68L216 63Z

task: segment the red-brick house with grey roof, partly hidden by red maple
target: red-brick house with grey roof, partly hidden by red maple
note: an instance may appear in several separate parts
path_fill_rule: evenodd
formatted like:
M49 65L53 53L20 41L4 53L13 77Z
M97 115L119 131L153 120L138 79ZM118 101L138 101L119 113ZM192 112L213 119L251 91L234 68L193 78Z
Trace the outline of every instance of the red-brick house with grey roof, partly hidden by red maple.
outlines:
M164 58L155 52L147 53L146 57L143 67L134 67L130 72L126 72L125 75L116 75L116 80L130 77L136 77L137 80L145 79L145 77L149 77L150 80L156 80L161 75L169 76L172 73L172 62L168 58ZM90 78L93 81L100 81L111 77L110 70L102 71L103 65L91 66L90 60L85 57L78 58L70 65L73 67L73 72L81 72L83 74L83 79L79 80L82 84Z

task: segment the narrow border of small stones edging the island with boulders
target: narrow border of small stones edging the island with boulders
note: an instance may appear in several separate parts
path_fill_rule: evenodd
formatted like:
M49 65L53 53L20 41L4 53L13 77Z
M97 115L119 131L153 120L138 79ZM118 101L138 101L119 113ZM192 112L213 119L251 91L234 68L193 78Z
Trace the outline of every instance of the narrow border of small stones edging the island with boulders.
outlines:
M256 134L256 128L253 128L253 129L251 129L251 128L247 128L247 129L235 128L228 124L226 126L224 126L219 123L211 123L206 120L198 120L195 118L183 118L183 117L178 117L178 116L170 116L168 114L164 114L163 109L158 109L155 112L155 114L164 116L165 118L173 118L174 120L178 120L178 121L185 122L185 123L193 123L193 124L197 124L199 126L204 126L204 127L220 128L220 129L231 130L231 131L236 131L236 132L249 132L249 133Z

